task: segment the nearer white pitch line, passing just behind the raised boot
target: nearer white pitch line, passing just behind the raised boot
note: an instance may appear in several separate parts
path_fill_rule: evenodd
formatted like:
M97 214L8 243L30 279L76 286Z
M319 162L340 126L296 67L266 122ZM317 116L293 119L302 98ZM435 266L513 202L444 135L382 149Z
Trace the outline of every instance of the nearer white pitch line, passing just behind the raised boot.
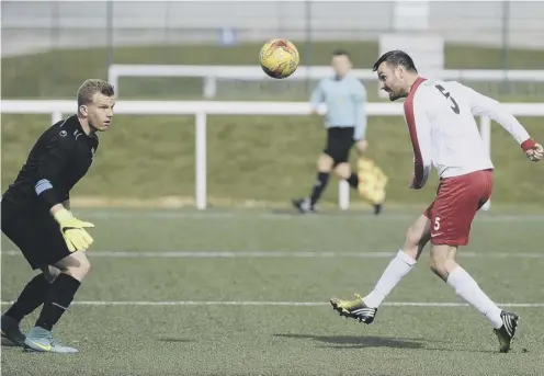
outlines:
M2 305L11 305L13 301L2 301ZM195 301L195 300L174 300L174 301L121 301L121 300L80 300L73 301L76 306L283 306L283 307L322 307L329 306L325 301ZM392 307L468 307L464 303L429 303L429 301L390 301L384 303L383 306ZM542 308L544 303L500 303L500 307L524 307Z

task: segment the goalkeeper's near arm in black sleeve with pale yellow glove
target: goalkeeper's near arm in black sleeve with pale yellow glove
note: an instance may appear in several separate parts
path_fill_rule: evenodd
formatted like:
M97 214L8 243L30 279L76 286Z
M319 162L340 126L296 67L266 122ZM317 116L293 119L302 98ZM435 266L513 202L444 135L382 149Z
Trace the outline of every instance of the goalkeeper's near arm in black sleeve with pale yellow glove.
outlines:
M49 213L59 224L66 244L73 252L89 248L93 239L84 228L94 226L75 218L69 209L63 205L66 197L59 196L52 183L67 166L75 147L73 140L68 137L58 136L46 146L47 152L39 161L34 189L37 197L49 208Z

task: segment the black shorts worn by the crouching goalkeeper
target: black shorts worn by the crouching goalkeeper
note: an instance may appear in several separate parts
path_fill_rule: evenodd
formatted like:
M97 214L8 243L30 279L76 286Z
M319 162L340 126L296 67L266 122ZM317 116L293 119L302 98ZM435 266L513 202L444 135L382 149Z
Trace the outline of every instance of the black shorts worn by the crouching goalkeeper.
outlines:
M47 210L21 208L5 200L0 205L2 232L19 247L32 269L55 264L71 254Z

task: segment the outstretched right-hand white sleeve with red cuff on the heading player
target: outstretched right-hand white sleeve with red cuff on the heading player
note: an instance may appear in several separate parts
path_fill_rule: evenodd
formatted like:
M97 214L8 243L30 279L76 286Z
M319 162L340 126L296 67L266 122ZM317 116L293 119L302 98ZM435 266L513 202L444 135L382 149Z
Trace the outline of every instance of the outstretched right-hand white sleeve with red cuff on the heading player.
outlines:
M457 83L457 86L464 96L468 99L473 115L486 115L499 123L510 135L512 135L524 152L540 146L501 103L492 98L480 94L464 84Z

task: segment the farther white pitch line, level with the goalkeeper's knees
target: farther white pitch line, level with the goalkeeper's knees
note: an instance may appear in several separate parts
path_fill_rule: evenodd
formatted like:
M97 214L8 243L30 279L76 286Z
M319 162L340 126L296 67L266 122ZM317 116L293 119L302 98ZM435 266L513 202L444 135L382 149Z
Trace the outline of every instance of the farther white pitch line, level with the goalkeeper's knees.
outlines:
M0 252L2 255L21 255L18 250ZM326 259L326 258L360 258L382 259L392 258L397 252L316 252L316 251L90 251L91 258L192 258L192 259L259 259L259 258L283 258L283 259ZM461 258L483 259L544 259L544 252L460 252Z

